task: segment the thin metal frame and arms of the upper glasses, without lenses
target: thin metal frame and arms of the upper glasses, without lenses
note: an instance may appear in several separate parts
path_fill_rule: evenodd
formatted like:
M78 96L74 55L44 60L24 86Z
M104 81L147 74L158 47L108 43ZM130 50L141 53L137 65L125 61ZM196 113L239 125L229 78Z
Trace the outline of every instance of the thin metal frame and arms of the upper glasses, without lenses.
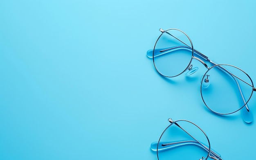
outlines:
M177 30L177 31L180 31L180 32L184 33L183 31L181 31L181 30L179 30L179 29L176 29L176 28L171 28L171 29L167 29L167 30L163 30L162 28L160 28L159 31L161 31L162 34L158 37L157 41L155 42L155 46L156 46L156 44L157 44L159 38L160 38L164 33L167 33L168 35L171 35L170 33L168 33L168 31L171 31L171 30ZM249 77L249 75L248 75L245 71L241 70L240 68L238 68L238 67L236 67L236 66L232 66L232 65L229 65L229 64L217 64L217 63L211 61L206 55L200 53L198 50L195 50L195 49L193 48L193 44L192 44L192 41L191 41L191 39L189 38L189 36L188 36L186 33L184 33L184 35L186 35L186 37L189 39L189 41L190 41L190 43L191 43L191 46L188 46L187 44L185 44L184 42L182 42L182 41L181 41L180 39L178 39L177 37L171 35L172 37L174 37L174 38L177 39L178 41L182 42L184 45L183 45L183 46L175 46L175 47L173 47L173 48L167 48L167 49L161 50L160 52L167 51L167 50L178 50L178 49L181 49L181 48L186 48L187 50L191 50L191 51L192 51L192 57L191 57L191 60L190 60L190 62L189 62L189 65L186 67L186 69L185 69L183 72L181 72L181 73L178 74L178 75L175 75L175 76L166 76L166 75L163 75L161 72L159 72L159 70L157 70L157 67L155 66L155 61L154 61L154 58L153 58L153 57L154 57L154 51L155 51L155 46L154 46L154 49L153 49L153 50L151 49L151 50L148 50L148 51L147 51L147 56L148 56L149 58L153 58L153 63L154 63L154 66L155 66L155 69L157 70L157 72L158 72L160 75L164 76L164 77L169 77L169 78L171 78L171 77L177 77L177 76L181 75L182 73L184 73L186 70L191 70L191 68L192 68L192 64L191 64L191 63L192 63L192 60L193 60L193 59L196 59L196 60L200 61L200 62L207 68L207 71L205 72L205 74L204 74L204 76L203 76L203 77L205 77L205 76L208 76L208 75L206 75L206 74L207 74L207 72L208 72L211 68L218 66L218 68L220 68L223 72L225 72L226 74L228 74L228 75L236 82L237 88L238 88L239 93L240 93L240 95L241 95L241 96L240 96L240 101L244 103L244 105L243 105L242 107L240 107L238 110L241 110L241 111L242 111L243 120L244 120L246 123L251 123L251 122L253 121L253 116L252 116L252 112L251 112L251 110L250 110L250 107L249 107L249 105L248 105L248 102L249 102L249 100L250 100L251 97L252 97L253 91L256 91L256 88L254 88L254 84L253 84L253 81L252 81L251 77ZM158 56L158 55L156 55L156 56ZM155 56L155 57L156 57L156 56ZM210 63L211 67L208 67L208 65L207 65L206 62L204 62L204 61ZM223 68L222 65L232 66L232 67L234 67L234 68L237 68L238 70L241 70L242 72L245 73L245 75L247 75L247 76L249 77L250 81L252 82L252 85L249 84L249 83L247 83L247 82L245 82L243 79L240 79L240 78L237 77L236 75L232 74L231 72L229 72L228 70L226 70L225 68ZM252 87L252 93L251 93L249 99L247 100L247 102L246 102L246 100L245 100L243 91L242 91L242 89L240 88L240 84L238 83L238 81L236 80L236 78L237 78L237 79L240 79L241 81L247 83L248 85L250 85L250 86ZM216 113L216 114L226 115L226 114L223 114L223 113L215 112L214 110L212 110L212 109L205 103L205 101L204 101L204 99L203 99L203 96L202 96L202 82L203 82L203 80L204 80L204 79L202 79L202 81L201 81L200 92L201 92L201 97L202 97L202 100L203 100L204 104L205 104L205 105L207 106L207 108L208 108L209 110L211 110L212 112L214 112L214 113ZM236 111L234 111L234 112L237 112L238 110L236 110ZM227 113L227 114L232 114L232 113L234 113L234 112Z

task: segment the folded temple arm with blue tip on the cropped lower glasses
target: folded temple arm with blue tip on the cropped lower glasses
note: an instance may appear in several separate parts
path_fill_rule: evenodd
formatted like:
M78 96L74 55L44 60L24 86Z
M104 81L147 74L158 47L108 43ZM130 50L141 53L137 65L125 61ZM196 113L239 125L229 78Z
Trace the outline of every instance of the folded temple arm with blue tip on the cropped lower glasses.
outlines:
M176 148L176 147L182 147L184 145L197 145L199 147L201 147L202 149L204 149L205 151L209 152L209 148L204 147L203 145L201 145L200 143L198 143L197 141L193 141L193 140L184 140L184 141L178 141L178 142L152 142L151 143L151 150L152 151L157 151L157 144L161 145L161 148L158 149L158 151L164 151L167 149L172 149L172 148ZM216 157L220 160L222 160L220 158L220 154L216 151L214 151L213 149L210 150L210 156Z

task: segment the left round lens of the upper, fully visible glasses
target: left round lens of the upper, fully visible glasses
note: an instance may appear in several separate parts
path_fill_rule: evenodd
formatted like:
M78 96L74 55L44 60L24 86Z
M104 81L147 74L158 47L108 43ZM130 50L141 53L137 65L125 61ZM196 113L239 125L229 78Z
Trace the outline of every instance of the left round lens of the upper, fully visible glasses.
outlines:
M192 61L193 45L182 31L169 29L157 39L153 50L156 70L163 76L175 77L183 73Z

